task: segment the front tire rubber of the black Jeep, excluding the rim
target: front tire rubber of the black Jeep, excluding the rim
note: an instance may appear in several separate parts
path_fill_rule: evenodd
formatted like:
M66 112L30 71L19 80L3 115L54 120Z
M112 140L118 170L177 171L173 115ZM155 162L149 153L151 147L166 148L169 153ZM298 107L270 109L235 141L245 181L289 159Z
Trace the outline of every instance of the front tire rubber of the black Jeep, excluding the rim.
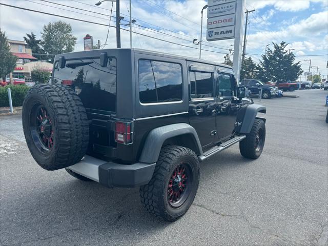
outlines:
M260 148L256 148L256 136L261 131ZM257 159L260 157L265 142L265 124L261 119L255 119L252 130L246 134L246 138L239 142L240 154L243 157Z

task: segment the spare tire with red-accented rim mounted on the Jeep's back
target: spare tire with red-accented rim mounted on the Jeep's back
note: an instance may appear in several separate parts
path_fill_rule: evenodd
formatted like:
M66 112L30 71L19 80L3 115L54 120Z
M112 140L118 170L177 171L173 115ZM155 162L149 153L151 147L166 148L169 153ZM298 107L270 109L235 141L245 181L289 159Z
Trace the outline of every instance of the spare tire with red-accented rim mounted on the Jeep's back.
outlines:
M88 118L80 98L70 87L33 86L25 97L22 118L27 146L42 168L67 168L86 154Z

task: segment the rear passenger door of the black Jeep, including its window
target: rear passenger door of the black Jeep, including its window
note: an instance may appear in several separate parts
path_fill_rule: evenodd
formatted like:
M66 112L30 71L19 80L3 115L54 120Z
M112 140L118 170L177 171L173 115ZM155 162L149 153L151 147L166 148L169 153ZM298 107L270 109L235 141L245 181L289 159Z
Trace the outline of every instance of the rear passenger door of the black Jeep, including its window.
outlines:
M189 122L197 132L202 147L211 146L215 131L216 101L214 98L213 65L188 61Z

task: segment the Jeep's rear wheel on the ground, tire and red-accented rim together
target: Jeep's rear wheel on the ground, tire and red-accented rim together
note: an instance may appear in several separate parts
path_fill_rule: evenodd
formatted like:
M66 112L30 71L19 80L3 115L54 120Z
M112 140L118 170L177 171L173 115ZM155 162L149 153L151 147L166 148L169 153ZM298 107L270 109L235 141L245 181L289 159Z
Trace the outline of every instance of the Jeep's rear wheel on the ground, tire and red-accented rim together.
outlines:
M162 148L150 182L140 187L140 198L152 214L174 221L190 208L198 189L199 161L185 147Z

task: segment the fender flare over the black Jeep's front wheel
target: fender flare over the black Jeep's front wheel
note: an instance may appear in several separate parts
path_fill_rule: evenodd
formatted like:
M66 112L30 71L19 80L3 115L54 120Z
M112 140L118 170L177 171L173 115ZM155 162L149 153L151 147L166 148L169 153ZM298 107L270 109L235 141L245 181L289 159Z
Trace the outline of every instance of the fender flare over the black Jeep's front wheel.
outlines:
M237 122L241 122L241 126L236 127L236 132L247 134L250 133L254 124L257 113L267 113L267 108L258 104L250 104L243 107L237 115ZM265 122L265 119L263 119Z

